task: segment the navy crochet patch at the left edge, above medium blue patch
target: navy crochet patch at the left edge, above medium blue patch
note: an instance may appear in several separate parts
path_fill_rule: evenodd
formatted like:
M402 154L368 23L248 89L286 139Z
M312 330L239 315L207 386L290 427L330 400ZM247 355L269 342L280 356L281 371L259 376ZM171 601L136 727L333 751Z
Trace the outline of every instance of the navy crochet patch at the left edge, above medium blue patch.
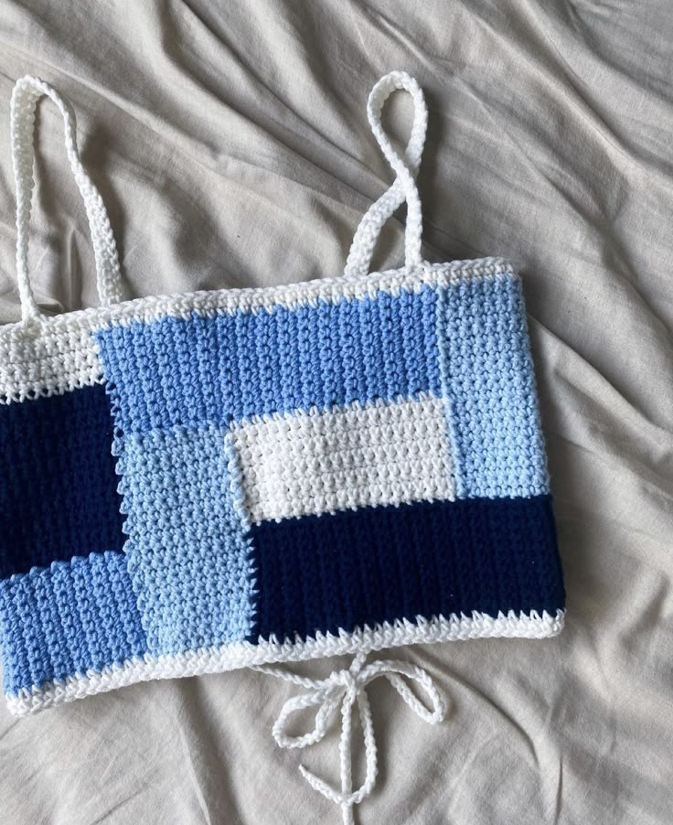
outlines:
M0 406L0 578L123 546L104 387Z

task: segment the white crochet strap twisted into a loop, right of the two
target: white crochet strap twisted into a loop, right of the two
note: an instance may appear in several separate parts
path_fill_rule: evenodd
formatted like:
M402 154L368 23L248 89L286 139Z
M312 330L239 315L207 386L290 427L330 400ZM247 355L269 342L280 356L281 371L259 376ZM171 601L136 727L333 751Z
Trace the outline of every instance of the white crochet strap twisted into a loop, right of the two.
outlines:
M393 91L404 90L413 100L413 125L404 157L398 155L381 125L381 111ZM391 71L374 86L369 94L367 116L371 131L397 177L392 186L372 204L353 238L348 253L347 277L369 273L374 247L379 240L383 224L391 217L403 200L407 201L407 227L404 235L405 264L408 267L421 263L422 213L421 199L415 178L421 166L428 110L421 87L406 71Z

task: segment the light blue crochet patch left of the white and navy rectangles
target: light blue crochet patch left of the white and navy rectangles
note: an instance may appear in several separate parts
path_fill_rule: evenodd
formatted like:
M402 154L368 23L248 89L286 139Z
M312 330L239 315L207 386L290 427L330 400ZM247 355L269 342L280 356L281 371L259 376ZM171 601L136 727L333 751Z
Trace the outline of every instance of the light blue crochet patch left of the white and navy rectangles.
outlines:
M126 436L116 450L125 551L150 651L247 638L254 579L223 428Z

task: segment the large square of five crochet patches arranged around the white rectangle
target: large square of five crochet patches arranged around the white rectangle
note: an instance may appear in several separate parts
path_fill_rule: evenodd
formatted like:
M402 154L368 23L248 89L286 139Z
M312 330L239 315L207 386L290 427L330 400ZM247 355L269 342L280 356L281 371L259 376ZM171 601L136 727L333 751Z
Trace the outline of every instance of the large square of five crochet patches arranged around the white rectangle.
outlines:
M458 595L465 571L471 609L561 608L518 278L406 278L359 299L98 333L129 571L152 652L449 615L470 608ZM524 505L507 511L506 537L499 505L469 504L510 498ZM442 535L423 533L428 507L438 526L463 525L459 557L447 560ZM377 534L390 530L401 546L390 540L377 556ZM418 542L430 556L414 563ZM533 546L522 581L508 555L519 545ZM410 601L414 565L431 563L445 592ZM380 615L363 612L381 587L392 595Z

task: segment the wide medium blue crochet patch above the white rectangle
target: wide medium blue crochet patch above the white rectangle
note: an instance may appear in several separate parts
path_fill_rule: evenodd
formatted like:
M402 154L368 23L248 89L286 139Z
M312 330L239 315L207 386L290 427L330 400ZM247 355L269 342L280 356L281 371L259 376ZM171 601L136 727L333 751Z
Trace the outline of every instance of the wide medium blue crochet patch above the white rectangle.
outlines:
M433 287L96 333L125 434L439 394Z

